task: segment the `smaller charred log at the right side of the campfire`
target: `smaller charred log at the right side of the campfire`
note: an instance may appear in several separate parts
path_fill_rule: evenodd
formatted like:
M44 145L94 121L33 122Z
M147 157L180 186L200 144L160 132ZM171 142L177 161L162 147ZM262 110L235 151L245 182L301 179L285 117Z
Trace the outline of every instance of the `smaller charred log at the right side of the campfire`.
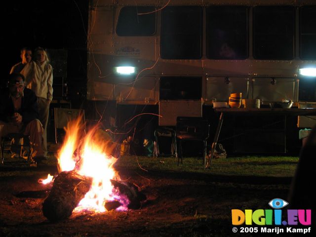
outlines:
M127 197L129 200L127 207L130 209L140 208L142 201L146 200L146 195L140 192L135 184L112 179L111 183L118 190L119 195Z

